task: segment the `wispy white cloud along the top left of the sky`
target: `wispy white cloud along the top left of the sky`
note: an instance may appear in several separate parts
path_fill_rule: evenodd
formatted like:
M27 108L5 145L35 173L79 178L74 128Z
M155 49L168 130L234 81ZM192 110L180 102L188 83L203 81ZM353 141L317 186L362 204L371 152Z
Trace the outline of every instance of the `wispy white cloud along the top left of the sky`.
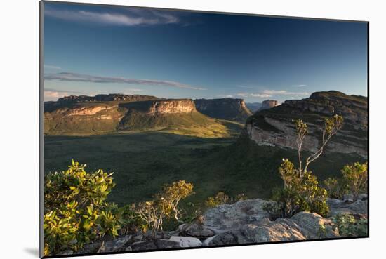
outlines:
M160 25L179 22L178 17L169 13L147 11L139 8L133 8L131 11L126 11L126 13L46 9L44 15L60 20L118 26Z

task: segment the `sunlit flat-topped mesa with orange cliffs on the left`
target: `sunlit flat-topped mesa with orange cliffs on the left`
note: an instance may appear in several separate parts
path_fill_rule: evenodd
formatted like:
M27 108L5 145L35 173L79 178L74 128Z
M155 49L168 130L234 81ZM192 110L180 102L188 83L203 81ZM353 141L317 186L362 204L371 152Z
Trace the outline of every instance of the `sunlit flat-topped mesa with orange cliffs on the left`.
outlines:
M204 138L230 135L224 122L198 112L191 99L113 94L69 96L45 103L44 133L48 135L143 131Z

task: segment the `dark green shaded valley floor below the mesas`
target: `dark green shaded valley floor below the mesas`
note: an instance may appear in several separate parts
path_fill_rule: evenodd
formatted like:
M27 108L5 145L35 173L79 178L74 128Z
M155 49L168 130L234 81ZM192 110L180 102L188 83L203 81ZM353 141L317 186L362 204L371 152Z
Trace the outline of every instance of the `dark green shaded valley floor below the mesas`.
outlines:
M97 171L101 166L114 172L117 185L107 201L119 206L152 199L165 182L180 179L194 184L196 194L181 202L185 210L192 209L192 212L220 191L229 197L244 193L247 197L268 199L272 188L282 186L277 173L281 158L296 161L296 152L258 146L247 136L235 141L168 133L45 136L44 168L47 173L66 168L68 161L76 157L86 161L90 171ZM350 154L337 156L326 152L310 165L310 170L318 180L336 178L345 164L355 161L364 162ZM187 206L189 202L195 204L195 208Z

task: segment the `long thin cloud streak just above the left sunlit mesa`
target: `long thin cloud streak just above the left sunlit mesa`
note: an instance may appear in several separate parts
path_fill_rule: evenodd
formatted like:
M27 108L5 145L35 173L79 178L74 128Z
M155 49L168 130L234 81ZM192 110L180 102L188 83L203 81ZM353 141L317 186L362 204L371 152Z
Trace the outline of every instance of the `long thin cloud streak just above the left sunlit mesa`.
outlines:
M152 79L132 79L124 77L99 77L89 74L77 74L71 72L61 72L57 74L44 75L45 80L59 80L59 81L77 81L77 82L91 82L91 83L121 83L121 84L137 84L148 86L171 86L177 88L186 88L193 90L206 90L205 88L189 86L175 81L167 80L152 80Z

